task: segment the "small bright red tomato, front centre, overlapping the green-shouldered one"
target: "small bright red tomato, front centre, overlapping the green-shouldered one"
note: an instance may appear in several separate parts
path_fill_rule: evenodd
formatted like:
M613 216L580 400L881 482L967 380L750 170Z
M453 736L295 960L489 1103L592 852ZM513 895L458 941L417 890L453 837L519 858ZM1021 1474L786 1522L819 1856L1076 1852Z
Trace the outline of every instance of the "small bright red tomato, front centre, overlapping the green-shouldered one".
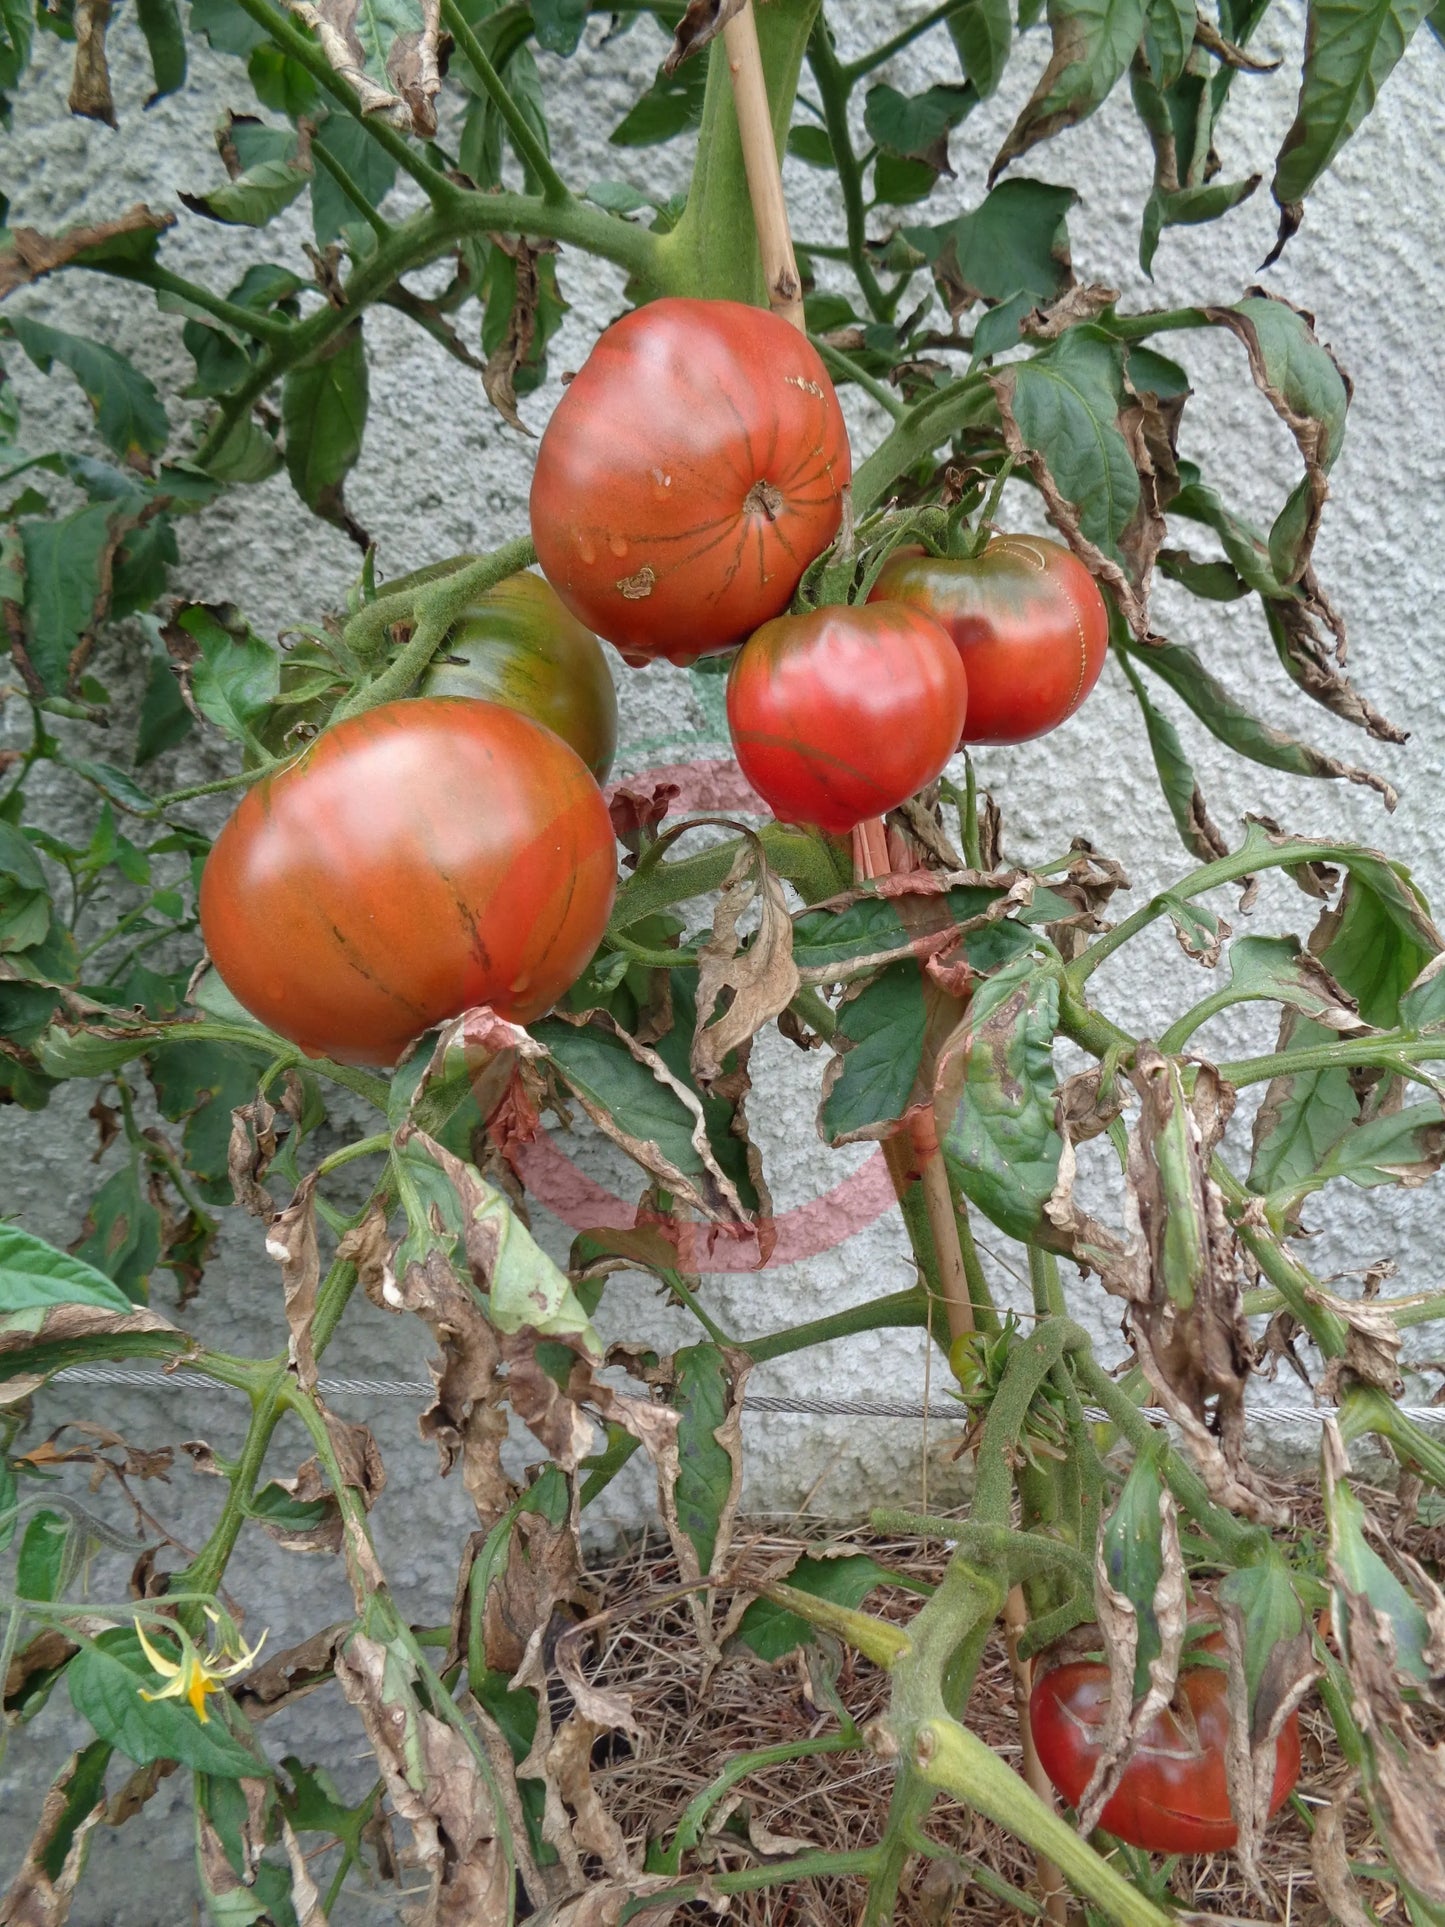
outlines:
M836 834L933 782L967 701L958 649L904 603L778 617L728 674L744 777L784 823Z

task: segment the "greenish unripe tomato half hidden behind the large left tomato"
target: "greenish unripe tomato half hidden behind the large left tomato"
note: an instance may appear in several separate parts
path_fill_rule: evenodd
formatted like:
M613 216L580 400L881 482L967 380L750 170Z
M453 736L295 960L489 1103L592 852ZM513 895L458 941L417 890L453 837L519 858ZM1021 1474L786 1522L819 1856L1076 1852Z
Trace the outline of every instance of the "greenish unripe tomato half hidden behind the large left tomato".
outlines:
M617 755L613 673L597 638L541 576L507 576L478 595L447 632L420 694L520 709L557 730L597 782L607 782Z

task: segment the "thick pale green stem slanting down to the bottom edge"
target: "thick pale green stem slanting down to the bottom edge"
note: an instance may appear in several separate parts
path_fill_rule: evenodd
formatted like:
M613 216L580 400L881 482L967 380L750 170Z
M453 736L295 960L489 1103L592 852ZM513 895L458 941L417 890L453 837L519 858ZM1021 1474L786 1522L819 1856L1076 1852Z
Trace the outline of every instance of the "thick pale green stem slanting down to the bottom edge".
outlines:
M963 1800L986 1819L1006 1827L1025 1846L1052 1860L1075 1892L1092 1900L1117 1927L1168 1927L1169 1917L1108 1860L1100 1860L1073 1827L1046 1808L967 1727L952 1719L927 1721L913 1736L913 1767L931 1786Z

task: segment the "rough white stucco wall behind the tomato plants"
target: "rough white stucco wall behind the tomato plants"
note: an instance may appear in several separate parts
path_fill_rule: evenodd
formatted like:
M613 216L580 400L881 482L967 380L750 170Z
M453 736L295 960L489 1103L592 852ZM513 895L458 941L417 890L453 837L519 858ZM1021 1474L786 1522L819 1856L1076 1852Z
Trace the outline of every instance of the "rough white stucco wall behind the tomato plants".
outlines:
M834 12L844 52L882 39L896 23L896 10L880 0ZM1283 6L1268 23L1260 50L1283 54L1289 67L1299 58L1300 31L1295 8ZM599 35L601 23L593 23L590 42ZM0 139L0 185L12 197L12 222L56 227L79 218L104 218L137 198L175 208L177 189L214 179L210 127L222 106L249 106L241 67L204 50L195 52L185 92L144 114L148 73L135 58L139 37L118 33L114 42L119 133L66 116L64 58L42 37L40 60L15 102L13 127ZM563 104L553 125L557 158L568 179L630 175L649 187L659 181L682 185L682 145L640 154L605 145L607 131L636 92L638 75L651 71L661 46L655 29L644 21L628 37L584 54L565 71L543 60L545 79L565 89L565 96L555 96ZM946 46L929 39L882 77L907 91L917 89L929 79L948 77L944 56ZM1000 98L954 137L959 179L929 204L929 220L942 220L948 210L979 198L983 168L1042 60L1044 40L1033 35L1015 58ZM1216 819L1229 829L1252 809L1297 831L1331 829L1385 842L1437 898L1445 896L1445 836L1435 807L1445 746L1437 725L1445 636L1435 595L1445 403L1437 380L1439 331L1430 277L1439 262L1441 160L1432 110L1441 60L1439 46L1422 35L1389 83L1379 114L1314 195L1304 231L1266 277L1270 287L1318 314L1324 339L1356 380L1349 437L1335 468L1337 501L1326 516L1318 563L1351 622L1356 678L1414 732L1412 742L1405 750L1364 744L1324 711L1302 717L1302 703L1274 665L1262 620L1248 603L1200 605L1168 586L1160 586L1156 601L1158 624L1198 644L1210 667L1266 717L1291 719L1333 753L1370 761L1401 790L1399 811L1387 821L1368 792L1289 780L1235 763L1162 698L1164 707L1181 719ZM1291 110L1287 81L1239 79L1225 123L1231 175L1258 168L1268 177ZM1156 279L1148 283L1135 256L1146 146L1123 92L1090 123L1031 156L1023 172L1081 187L1083 200L1069 222L1075 268L1083 279L1119 287L1125 306L1237 299L1256 277L1254 264L1272 241L1272 206L1260 193L1225 224L1166 233ZM817 173L790 162L788 191L800 235L819 237L838 229L823 202ZM291 210L268 231L266 258L301 266L299 251L306 237L304 214ZM173 251L168 260L225 285L225 268L254 258L254 237L181 214L181 225L168 243ZM622 306L620 277L609 268L565 254L561 277L572 314L557 343L555 372L576 366L595 330ZM19 303L25 312L112 341L166 383L189 366L179 347L179 322L158 318L150 297L141 291L77 276L27 291ZM447 362L420 331L389 312L372 314L366 326L374 345L372 414L349 501L378 538L385 572L395 574L464 547L489 547L514 534L524 526L536 445L507 430L486 407L474 380ZM1196 383L1183 453L1202 462L1227 499L1268 526L1295 480L1297 457L1289 437L1264 403L1241 385L1241 351L1233 341L1189 335L1175 337L1171 347L1187 360ZM6 358L27 403L73 428L77 437L89 434L85 405L66 378L42 382L17 353ZM539 426L555 395L551 387L526 399L522 412ZM850 403L850 416L867 445L879 432L871 405ZM264 632L276 632L293 619L318 617L341 597L355 570L355 551L345 538L304 518L283 478L233 493L187 524L181 540L177 588L241 603ZM112 647L106 667L116 684L133 673L123 644ZM632 674L618 667L618 684L622 769L705 753L709 730L713 752L722 752L717 715L699 707L686 674L667 667ZM183 773L177 780L189 780L223 765L216 752L187 748L175 767ZM1133 701L1114 667L1085 713L1048 742L985 752L979 767L1002 800L1008 848L1025 859L1058 854L1073 832L1083 832L1127 863L1135 900L1187 867L1168 832ZM64 817L75 805L58 794L54 807ZM1304 900L1289 886L1274 884L1264 890L1248 927L1302 929L1306 923ZM1193 969L1173 940L1160 935L1131 973L1131 983L1114 971L1100 989L1106 998L1117 998L1112 1008L1131 1027L1156 1033L1171 1014L1202 994L1204 985L1196 973L1191 977ZM1241 1046L1264 1046L1270 1035L1272 1017L1252 1012L1231 1029L1204 1033L1202 1044L1233 1054ZM751 1116L780 1208L827 1191L850 1164L850 1156L830 1158L817 1143L817 1091L800 1091L798 1064L790 1046L776 1041L765 1044L755 1060L759 1096ZM815 1064L807 1075L817 1079L819 1071ZM94 1172L83 1162L85 1152L77 1150L87 1145L87 1102L89 1093L75 1087L58 1093L40 1116L10 1112L0 1118L4 1208L58 1243L77 1235L94 1187ZM597 1174L609 1170L601 1147L588 1147L586 1156ZM622 1174L617 1172L617 1177ZM1322 1233L1312 1256L1322 1270L1395 1256L1410 1287L1432 1285L1439 1212L1435 1189L1331 1193L1312 1212ZM559 1254L565 1251L561 1227L543 1226L543 1235ZM815 1260L761 1278L719 1280L707 1289L724 1326L748 1333L896 1289L907 1278L906 1245L896 1218L888 1216ZM998 1278L1004 1291L1015 1289L1006 1270L998 1270ZM166 1285L160 1303L164 1308ZM1108 1307L1096 1308L1092 1301L1081 1308L1102 1330L1117 1322ZM277 1343L276 1276L254 1222L227 1227L222 1254L187 1318L210 1343L225 1349L260 1353ZM605 1326L615 1335L644 1328L659 1345L692 1335L688 1322L657 1307L649 1287L638 1280L609 1287ZM383 1318L360 1305L349 1314L328 1357L328 1370L337 1376L420 1378L426 1353L420 1326ZM919 1335L880 1333L759 1370L753 1384L759 1391L827 1391L844 1399L882 1391L919 1397L923 1357ZM212 1397L214 1412L197 1411L189 1401L183 1409L170 1391L54 1387L39 1401L37 1422L48 1430L64 1418L87 1416L148 1445L204 1432L223 1449L239 1438L241 1412L225 1393ZM391 1476L389 1495L378 1509L381 1557L405 1609L418 1621L435 1621L449 1605L455 1547L468 1526L464 1493L459 1484L441 1486L434 1478L432 1455L416 1439L410 1405L335 1403L353 1416L366 1416L378 1434ZM915 1424L755 1416L746 1436L748 1501L753 1507L790 1513L811 1499L815 1509L838 1515L859 1509L879 1488L917 1490L921 1436ZM279 1441L277 1461L283 1447L302 1457L299 1438ZM938 1463L934 1495L946 1491L956 1476ZM418 1497L407 1503L412 1488ZM152 1488L148 1497L177 1536L195 1544L206 1530L216 1488L181 1465L171 1484ZM647 1491L642 1478L618 1482L605 1507L624 1522L644 1517ZM123 1561L102 1561L92 1580L94 1596L116 1597L123 1588ZM341 1574L329 1563L279 1555L260 1534L247 1540L245 1555L233 1569L233 1586L247 1607L249 1626L270 1624L276 1646L345 1613ZM326 1698L306 1702L289 1719L291 1730L270 1734L276 1750L283 1742L306 1757L328 1757L343 1779L356 1771L349 1763L355 1736L343 1738L347 1727ZM71 1744L69 1727L69 1709L62 1700L37 1729L12 1744L0 1769L0 1883L29 1836L44 1771ZM185 1788L171 1781L154 1802L154 1821L98 1840L92 1875L75 1910L77 1921L87 1927L154 1927L193 1917L191 1875L183 1865L191 1852L185 1809ZM341 1917L389 1914L366 1906Z

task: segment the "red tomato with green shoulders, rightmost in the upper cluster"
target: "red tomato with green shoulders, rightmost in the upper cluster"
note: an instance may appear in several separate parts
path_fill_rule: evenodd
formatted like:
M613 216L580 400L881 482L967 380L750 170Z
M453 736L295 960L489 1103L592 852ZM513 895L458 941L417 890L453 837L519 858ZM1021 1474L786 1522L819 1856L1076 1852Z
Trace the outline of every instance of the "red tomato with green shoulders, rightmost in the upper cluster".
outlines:
M969 673L967 742L1058 728L1104 669L1104 597L1069 549L1040 536L994 536L971 561L900 549L869 599L911 603L954 638Z

